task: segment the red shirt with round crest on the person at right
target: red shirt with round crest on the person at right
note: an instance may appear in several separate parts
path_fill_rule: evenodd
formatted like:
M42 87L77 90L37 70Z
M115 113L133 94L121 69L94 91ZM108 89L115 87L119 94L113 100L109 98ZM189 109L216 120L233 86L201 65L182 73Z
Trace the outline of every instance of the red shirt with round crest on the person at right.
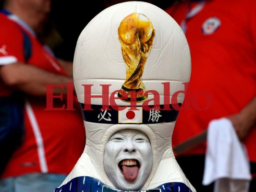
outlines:
M193 2L191 9L200 2ZM181 25L187 1L168 8ZM256 1L208 0L186 21L191 50L190 85L183 102L172 144L176 146L207 129L210 120L238 113L256 96ZM244 144L256 162L256 128ZM205 154L200 144L184 155Z

